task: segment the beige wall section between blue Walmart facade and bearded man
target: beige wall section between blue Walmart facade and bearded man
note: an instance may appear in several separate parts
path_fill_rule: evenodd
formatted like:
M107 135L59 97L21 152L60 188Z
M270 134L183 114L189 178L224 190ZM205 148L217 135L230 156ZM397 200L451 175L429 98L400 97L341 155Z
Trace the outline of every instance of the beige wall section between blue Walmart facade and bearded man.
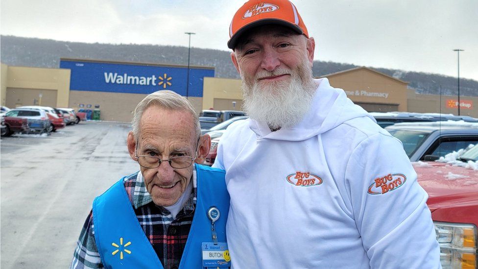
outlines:
M240 79L204 77L203 89L202 109L241 110Z

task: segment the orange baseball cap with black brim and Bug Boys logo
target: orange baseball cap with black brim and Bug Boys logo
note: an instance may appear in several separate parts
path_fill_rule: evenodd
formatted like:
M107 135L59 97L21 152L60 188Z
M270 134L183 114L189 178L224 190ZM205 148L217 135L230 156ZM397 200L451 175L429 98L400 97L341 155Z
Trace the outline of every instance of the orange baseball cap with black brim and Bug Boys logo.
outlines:
M227 47L234 49L239 36L252 27L279 24L309 37L307 27L297 8L288 0L249 0L234 14L229 26Z

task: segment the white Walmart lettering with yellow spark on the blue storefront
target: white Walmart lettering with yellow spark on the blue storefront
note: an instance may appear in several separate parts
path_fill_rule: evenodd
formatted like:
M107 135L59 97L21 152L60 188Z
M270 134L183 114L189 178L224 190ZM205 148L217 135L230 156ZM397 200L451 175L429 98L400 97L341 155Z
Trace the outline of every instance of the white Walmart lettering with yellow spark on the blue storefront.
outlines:
M105 72L104 78L106 83L111 84L129 84L129 85L145 85L145 86L162 86L166 89L167 86L171 86L170 80L172 77L166 73L162 76L150 75L150 76L137 76L128 75L127 73L118 74L112 72Z

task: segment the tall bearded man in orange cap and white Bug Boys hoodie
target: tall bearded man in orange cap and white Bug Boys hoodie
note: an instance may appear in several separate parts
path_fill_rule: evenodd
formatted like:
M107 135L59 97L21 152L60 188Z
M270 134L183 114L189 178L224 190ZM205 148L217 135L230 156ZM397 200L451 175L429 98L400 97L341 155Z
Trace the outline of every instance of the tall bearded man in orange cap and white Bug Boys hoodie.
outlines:
M296 7L250 0L229 32L250 116L229 126L213 166L226 170L233 267L439 268L402 144L313 79L315 42Z

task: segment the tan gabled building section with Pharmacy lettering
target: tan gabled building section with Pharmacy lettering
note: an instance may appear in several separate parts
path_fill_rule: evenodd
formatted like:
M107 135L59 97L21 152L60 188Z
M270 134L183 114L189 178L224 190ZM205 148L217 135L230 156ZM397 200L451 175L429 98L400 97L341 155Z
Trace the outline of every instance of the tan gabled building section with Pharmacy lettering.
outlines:
M339 73L328 74L330 85L341 88L355 103L365 103L369 107L398 107L407 109L407 84L391 76L359 67ZM374 105L378 104L378 105ZM382 105L379 105L382 104Z

